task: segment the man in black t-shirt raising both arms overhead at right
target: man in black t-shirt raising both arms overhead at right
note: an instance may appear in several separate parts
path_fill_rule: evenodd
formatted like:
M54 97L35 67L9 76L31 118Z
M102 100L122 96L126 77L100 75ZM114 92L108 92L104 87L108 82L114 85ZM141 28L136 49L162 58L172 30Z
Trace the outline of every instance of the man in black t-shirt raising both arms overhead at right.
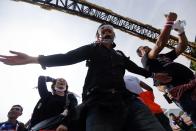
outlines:
M195 77L189 68L180 63L174 62L174 60L187 48L188 41L183 26L180 25L181 21L177 21L174 24L174 21L177 19L177 14L169 13L166 18L166 25L157 39L155 46L152 49L148 46L140 46L137 49L137 53L142 57L141 61L145 69L152 72L165 72L172 77L172 80L167 84L154 80L155 86L166 85L167 90L170 92L179 85L191 82ZM170 52L159 54L166 46L172 27L175 27L179 32L179 44ZM185 112L191 115L191 119L194 123L196 123L196 100L192 99L191 96L194 95L192 92L195 87L196 85L191 84L184 90L179 90L178 88L178 90L175 89L177 92L172 92L172 94L181 94L180 99L177 100L177 102ZM183 91L183 93L181 93L181 91Z

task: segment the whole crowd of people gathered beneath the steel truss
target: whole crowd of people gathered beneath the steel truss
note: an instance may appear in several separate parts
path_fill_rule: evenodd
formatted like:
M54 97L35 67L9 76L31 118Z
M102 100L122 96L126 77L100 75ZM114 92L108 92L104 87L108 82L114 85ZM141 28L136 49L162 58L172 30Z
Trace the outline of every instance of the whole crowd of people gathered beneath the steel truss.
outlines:
M178 45L170 52L161 54L172 30L178 32ZM39 76L37 88L40 100L28 124L17 120L23 108L14 105L8 112L8 120L0 123L0 130L172 131L174 125L185 131L194 128L196 78L189 68L174 62L188 44L176 13L166 15L166 23L152 49L148 46L137 49L144 68L122 51L114 49L116 43L112 25L101 24L96 37L95 42L65 54L33 57L11 51L14 56L0 55L0 62L6 65L40 64L46 69L86 61L88 67L81 104L78 105L74 93L68 91L64 78ZM163 87L169 99L190 116L193 126L190 127L174 114L169 115L170 122L161 109L161 103L154 102L156 96L153 89L136 77L124 77L125 70L152 78L154 86ZM51 83L52 92L48 90L47 82Z

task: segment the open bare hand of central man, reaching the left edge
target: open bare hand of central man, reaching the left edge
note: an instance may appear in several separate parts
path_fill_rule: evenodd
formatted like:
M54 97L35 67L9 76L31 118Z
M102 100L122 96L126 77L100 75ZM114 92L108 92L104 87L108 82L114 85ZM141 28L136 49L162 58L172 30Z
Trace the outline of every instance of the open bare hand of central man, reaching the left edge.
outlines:
M0 62L6 65L24 65L29 63L38 63L37 57L29 56L25 53L10 51L12 56L0 55Z

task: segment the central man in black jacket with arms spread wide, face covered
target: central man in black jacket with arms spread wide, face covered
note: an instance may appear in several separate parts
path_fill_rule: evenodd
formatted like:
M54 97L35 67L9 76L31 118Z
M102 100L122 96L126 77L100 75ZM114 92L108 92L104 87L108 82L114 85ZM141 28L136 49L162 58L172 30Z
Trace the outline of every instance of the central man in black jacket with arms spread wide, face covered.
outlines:
M115 33L111 25L101 25L96 36L96 42L65 54L32 57L12 51L15 56L1 55L0 61L8 65L38 63L45 69L86 60L88 72L82 94L86 131L164 131L149 109L126 90L123 79L125 70L144 77L160 75L152 75L121 51L114 50Z

